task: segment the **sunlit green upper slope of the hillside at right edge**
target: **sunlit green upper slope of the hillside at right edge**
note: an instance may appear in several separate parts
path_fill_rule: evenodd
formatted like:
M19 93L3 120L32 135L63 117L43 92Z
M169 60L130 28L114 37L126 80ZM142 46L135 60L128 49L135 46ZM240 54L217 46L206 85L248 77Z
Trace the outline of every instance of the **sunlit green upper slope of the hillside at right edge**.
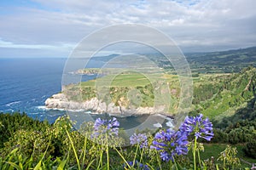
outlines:
M240 73L205 75L203 78L195 82L193 104L197 112L221 119L234 115L255 100L256 69L253 67Z

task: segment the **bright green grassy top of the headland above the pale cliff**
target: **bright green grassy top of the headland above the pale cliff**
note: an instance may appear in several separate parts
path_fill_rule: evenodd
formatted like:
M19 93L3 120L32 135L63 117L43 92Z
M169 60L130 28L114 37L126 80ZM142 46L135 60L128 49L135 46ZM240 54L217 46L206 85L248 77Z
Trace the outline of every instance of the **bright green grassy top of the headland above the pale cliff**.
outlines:
M67 98L74 101L84 101L94 97L105 99L110 95L112 102L115 105L130 105L132 102L129 95L137 95L140 103L137 106L147 107L154 106L155 94L162 95L164 98L168 93L166 90L166 82L170 84L170 88L177 92L173 99L177 99L179 92L179 82L177 75L168 75L165 73L152 73L150 75L143 75L137 72L124 71L119 75L107 75L88 82L80 82L79 84L68 85L64 93ZM103 88L103 89L102 89ZM101 90L107 90L109 93L102 96ZM101 96L99 96L101 95ZM129 99L130 98L130 99ZM134 99L133 99L134 100ZM162 101L165 103L165 99Z

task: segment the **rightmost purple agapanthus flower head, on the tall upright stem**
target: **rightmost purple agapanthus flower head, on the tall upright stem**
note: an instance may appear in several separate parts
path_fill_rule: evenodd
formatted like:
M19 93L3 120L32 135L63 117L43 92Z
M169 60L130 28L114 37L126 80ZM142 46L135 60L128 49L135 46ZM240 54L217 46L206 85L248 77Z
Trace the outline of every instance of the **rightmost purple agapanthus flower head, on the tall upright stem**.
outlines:
M208 118L202 119L202 116L202 114L196 117L187 116L180 130L183 131L183 133L188 133L188 135L195 135L196 139L203 138L210 141L214 135L212 122L210 122Z

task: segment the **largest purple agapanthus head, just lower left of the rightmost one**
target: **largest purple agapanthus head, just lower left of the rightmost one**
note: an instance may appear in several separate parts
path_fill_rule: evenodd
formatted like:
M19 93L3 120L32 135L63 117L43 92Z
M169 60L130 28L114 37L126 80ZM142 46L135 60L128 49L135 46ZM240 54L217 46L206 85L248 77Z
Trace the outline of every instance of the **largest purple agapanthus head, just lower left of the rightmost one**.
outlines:
M174 131L171 128L166 131L160 131L154 136L151 149L160 150L160 157L163 161L170 161L174 156L186 155L188 153L187 133Z

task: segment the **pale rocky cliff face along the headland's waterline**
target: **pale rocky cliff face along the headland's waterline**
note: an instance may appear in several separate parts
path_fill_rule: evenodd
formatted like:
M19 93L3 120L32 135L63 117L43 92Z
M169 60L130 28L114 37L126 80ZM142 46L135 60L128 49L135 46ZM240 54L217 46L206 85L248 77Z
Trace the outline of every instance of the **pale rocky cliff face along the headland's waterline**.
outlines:
M136 109L126 108L122 105L106 104L97 98L92 98L84 102L68 100L65 94L54 94L45 100L45 106L49 109L60 109L66 111L96 111L99 114L108 113L113 115L143 115L163 113L164 107L138 107Z

